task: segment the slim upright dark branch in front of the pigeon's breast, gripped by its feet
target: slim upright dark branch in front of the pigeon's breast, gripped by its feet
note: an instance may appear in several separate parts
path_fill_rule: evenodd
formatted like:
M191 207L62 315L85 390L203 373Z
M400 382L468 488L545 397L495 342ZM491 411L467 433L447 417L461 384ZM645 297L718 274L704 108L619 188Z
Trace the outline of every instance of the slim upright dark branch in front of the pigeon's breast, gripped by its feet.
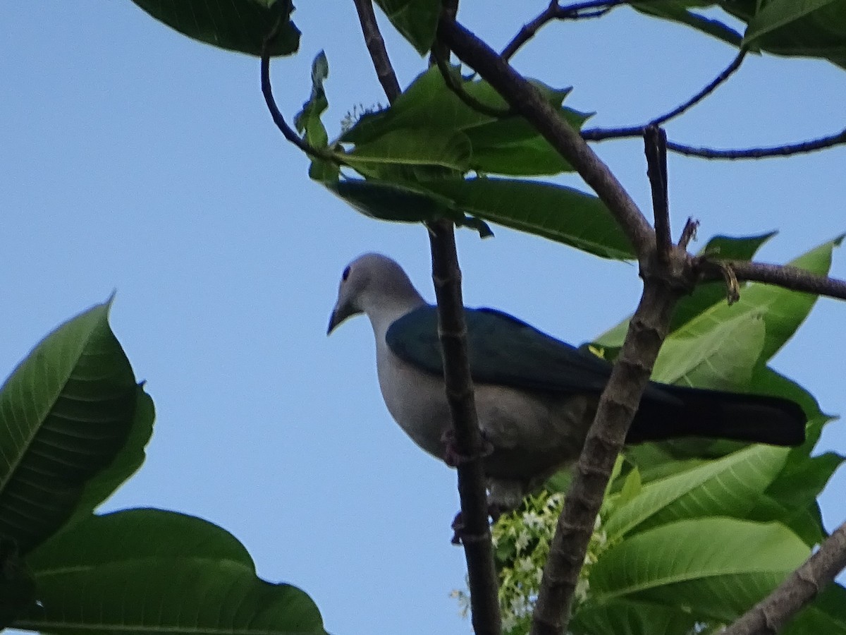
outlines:
M453 416L455 449L469 460L458 466L461 499L460 538L467 560L470 609L476 635L502 631L493 563L491 527L488 524L483 441L476 418L473 380L467 356L467 327L461 296L461 271L455 249L453 224L446 220L429 225L431 277L437 297L438 334L443 351L443 378Z

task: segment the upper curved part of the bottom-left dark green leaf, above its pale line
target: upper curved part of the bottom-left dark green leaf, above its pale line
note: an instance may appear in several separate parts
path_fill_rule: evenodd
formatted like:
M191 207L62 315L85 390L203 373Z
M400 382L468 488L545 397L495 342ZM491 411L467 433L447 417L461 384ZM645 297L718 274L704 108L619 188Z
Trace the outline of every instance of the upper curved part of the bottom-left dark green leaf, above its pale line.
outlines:
M143 558L232 560L253 567L244 545L217 525L176 511L136 508L87 516L27 556L36 576Z

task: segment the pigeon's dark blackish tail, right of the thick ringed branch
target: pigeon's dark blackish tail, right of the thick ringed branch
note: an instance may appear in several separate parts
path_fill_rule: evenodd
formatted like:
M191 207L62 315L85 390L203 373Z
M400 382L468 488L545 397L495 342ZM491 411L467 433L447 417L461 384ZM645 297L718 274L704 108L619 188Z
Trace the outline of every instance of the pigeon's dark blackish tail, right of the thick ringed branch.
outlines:
M799 445L805 441L805 412L794 401L662 385L681 405L646 398L626 443L708 437L747 443Z

